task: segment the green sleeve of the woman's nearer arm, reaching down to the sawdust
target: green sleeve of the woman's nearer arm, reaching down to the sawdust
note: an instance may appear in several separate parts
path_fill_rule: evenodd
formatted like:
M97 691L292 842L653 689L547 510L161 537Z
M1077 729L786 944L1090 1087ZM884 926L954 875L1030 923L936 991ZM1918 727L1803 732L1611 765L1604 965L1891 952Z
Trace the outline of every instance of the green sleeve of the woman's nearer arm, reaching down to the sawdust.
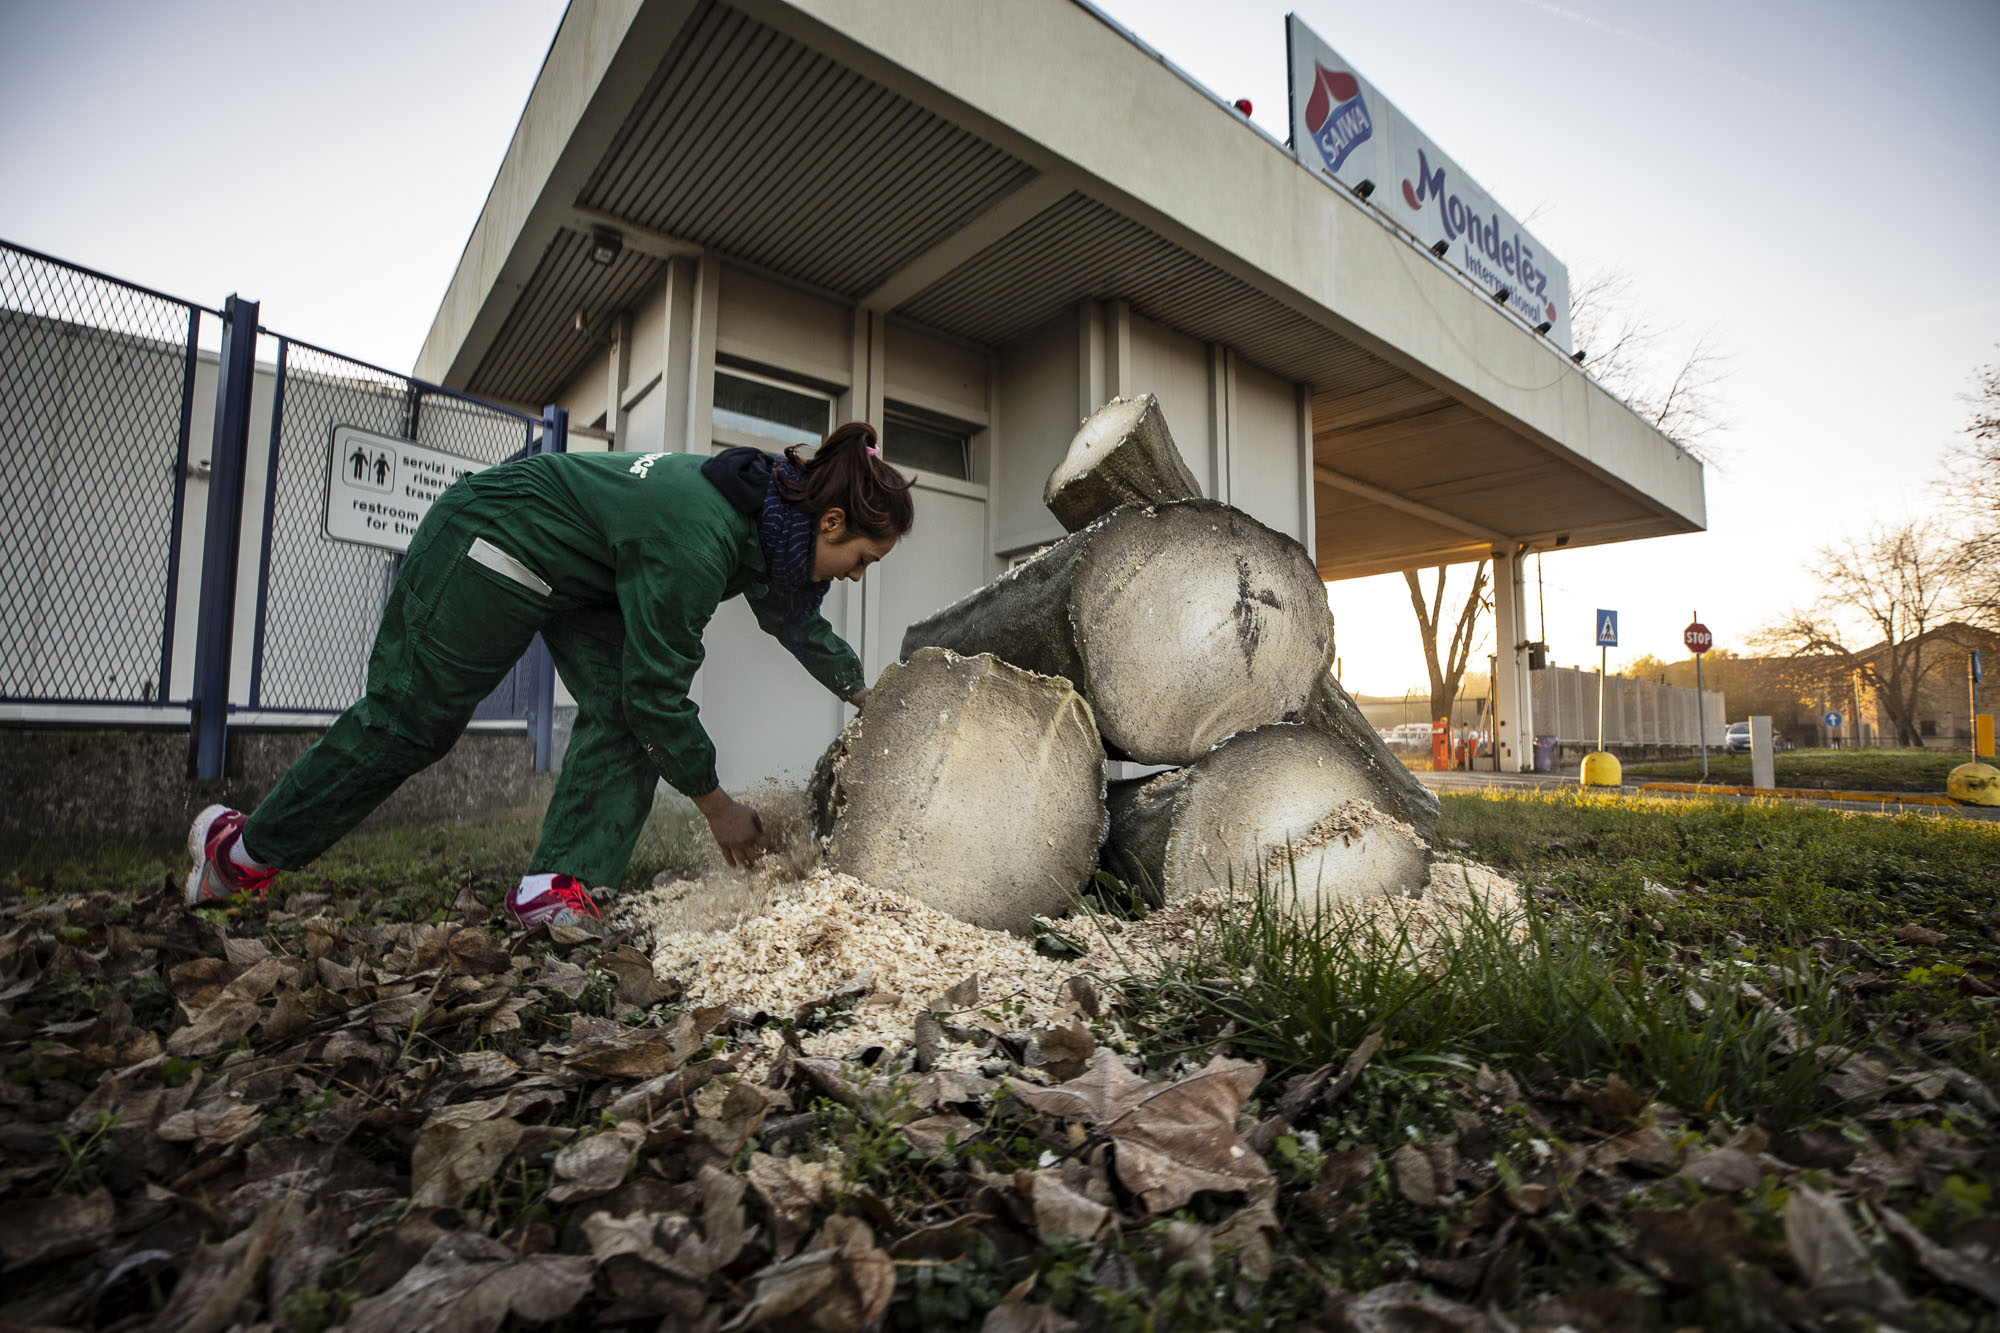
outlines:
M726 576L710 558L666 540L622 542L616 564L626 723L674 791L704 797L722 783L716 745L688 687Z

